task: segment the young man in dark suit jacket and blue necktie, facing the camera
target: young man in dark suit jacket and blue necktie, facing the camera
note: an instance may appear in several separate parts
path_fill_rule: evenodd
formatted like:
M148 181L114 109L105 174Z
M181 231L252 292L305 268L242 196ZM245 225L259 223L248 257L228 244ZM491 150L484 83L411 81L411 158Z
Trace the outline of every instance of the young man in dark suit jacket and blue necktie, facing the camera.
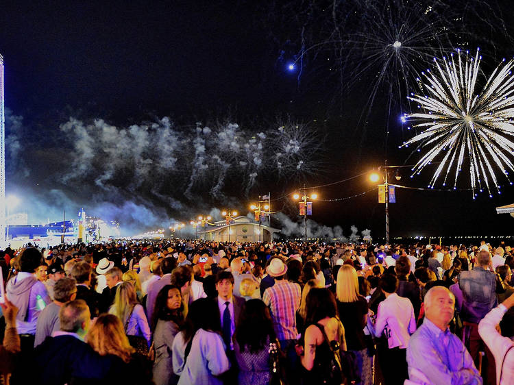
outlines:
M221 322L221 333L225 342L227 357L231 368L224 378L227 384L234 384L237 379L237 364L234 356L234 343L232 336L238 323L239 314L245 304L245 299L232 294L234 290L234 276L230 271L220 271L216 276L216 290L218 290L218 309Z

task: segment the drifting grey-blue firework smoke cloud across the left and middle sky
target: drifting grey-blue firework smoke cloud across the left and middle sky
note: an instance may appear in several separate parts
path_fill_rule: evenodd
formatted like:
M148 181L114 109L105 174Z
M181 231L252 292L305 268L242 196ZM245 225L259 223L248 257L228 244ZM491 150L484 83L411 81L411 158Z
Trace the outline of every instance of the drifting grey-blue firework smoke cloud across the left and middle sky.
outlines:
M259 186L285 186L319 171L323 146L314 129L294 121L253 128L177 125L164 116L118 126L71 116L47 137L34 132L7 110L7 188L21 197L29 222L60 220L64 210L74 219L84 208L119 221L124 235L167 228L212 207L246 206Z

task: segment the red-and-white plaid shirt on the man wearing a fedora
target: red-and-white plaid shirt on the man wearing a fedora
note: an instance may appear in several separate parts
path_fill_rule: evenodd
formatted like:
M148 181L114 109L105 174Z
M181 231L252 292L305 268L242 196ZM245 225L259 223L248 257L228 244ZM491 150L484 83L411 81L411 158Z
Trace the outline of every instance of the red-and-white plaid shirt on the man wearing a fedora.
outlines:
M279 340L294 340L297 338L296 310L302 298L299 284L286 280L276 280L271 288L262 295L262 301L269 306L275 332Z

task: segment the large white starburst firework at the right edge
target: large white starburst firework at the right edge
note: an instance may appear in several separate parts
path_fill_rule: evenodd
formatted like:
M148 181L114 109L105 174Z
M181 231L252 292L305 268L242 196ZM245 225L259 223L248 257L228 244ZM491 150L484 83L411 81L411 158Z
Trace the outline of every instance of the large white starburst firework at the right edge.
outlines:
M443 58L442 64L434 59L437 71L422 73L428 95L411 94L408 99L424 112L405 114L402 121L411 120L413 127L423 131L400 147L417 143L417 151L426 152L414 166L413 175L419 175L436 158L440 160L430 188L441 176L445 186L454 173L455 189L464 159L469 157L473 197L483 188L489 195L492 188L500 193L496 173L501 171L508 179L509 170L514 170L514 60L506 64L503 60L484 88L476 92L482 57L478 50L474 57L467 51L465 58L461 55L458 51L456 58Z

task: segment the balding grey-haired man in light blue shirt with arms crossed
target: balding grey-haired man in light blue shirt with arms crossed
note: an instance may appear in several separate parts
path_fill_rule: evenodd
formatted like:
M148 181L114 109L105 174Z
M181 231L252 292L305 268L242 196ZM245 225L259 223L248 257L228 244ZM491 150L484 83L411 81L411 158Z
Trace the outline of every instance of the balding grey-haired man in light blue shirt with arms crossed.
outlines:
M443 286L428 290L423 325L407 347L408 376L416 384L482 384L482 377L462 341L450 332L454 295Z

